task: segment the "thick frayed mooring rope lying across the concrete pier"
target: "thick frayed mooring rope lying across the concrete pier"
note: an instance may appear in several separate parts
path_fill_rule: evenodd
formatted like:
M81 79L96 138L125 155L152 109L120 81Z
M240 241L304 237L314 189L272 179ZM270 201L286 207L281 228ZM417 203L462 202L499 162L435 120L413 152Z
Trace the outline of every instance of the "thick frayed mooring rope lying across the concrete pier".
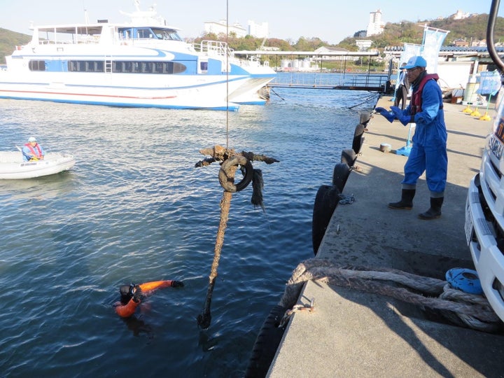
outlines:
M293 304L297 302L303 283L309 280L362 290L367 293L387 295L403 302L437 309L449 320L454 318L454 314L456 314L461 320L457 323L463 322L471 328L476 327L478 330L486 332L495 332L502 325L500 318L493 312L484 296L463 293L459 290L456 290L459 291L457 294L452 291L447 293L447 281L418 276L398 269L368 269L364 267L345 269L335 266L328 259L321 258L306 260L297 265L287 282L280 304L287 308L293 307ZM407 288L391 286L389 283L400 283L402 286L428 295L438 295L438 297L426 297L419 293L413 293Z

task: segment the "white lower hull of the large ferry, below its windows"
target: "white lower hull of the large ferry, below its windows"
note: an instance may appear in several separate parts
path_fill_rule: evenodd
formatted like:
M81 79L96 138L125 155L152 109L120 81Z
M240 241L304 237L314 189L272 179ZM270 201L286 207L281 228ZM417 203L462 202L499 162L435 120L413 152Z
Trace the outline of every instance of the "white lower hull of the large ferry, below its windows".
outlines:
M206 78L205 82L198 80L198 83L195 80L190 85L187 78L186 83L172 80L165 84L152 78L136 83L142 80L132 80L126 75L113 73L91 73L87 77L78 73L28 76L29 80L26 76L8 76L8 71L0 73L0 98L125 107L210 110L225 110L229 107L230 110L237 110L241 103L226 100L226 87L232 93L248 81L246 76L242 76L226 83L225 78L218 77ZM222 96L217 96L218 93ZM249 99L256 104L264 103L257 95Z

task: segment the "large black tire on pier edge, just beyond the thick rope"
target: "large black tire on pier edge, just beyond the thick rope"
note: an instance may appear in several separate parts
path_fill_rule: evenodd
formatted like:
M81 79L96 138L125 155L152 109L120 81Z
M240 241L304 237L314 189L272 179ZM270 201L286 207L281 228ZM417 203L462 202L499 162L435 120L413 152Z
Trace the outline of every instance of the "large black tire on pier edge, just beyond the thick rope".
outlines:
M339 202L339 193L336 186L323 185L318 188L311 221L311 242L315 255L325 235L332 213L334 213Z

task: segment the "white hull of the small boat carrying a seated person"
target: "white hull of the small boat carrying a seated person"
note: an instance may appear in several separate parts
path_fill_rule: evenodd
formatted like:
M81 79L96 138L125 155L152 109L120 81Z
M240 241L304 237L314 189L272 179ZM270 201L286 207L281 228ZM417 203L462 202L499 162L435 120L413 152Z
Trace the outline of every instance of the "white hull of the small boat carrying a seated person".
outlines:
M73 155L48 153L43 160L25 162L20 152L0 152L0 180L34 179L68 171L75 165Z

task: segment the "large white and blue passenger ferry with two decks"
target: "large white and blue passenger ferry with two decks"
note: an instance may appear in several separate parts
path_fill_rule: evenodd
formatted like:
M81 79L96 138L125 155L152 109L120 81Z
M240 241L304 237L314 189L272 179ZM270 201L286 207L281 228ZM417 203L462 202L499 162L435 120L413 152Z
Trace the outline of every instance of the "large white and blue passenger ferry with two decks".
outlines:
M233 57L218 41L186 43L156 11L129 23L33 27L0 70L0 98L76 104L235 111L265 104L276 73Z

